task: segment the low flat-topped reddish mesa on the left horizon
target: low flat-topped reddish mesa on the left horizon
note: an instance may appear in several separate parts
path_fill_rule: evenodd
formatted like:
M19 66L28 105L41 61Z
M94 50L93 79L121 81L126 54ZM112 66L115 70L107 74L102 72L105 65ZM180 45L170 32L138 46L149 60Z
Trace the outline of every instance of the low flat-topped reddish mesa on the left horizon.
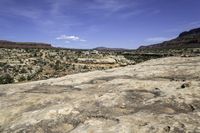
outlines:
M51 44L0 40L0 48L53 48Z

